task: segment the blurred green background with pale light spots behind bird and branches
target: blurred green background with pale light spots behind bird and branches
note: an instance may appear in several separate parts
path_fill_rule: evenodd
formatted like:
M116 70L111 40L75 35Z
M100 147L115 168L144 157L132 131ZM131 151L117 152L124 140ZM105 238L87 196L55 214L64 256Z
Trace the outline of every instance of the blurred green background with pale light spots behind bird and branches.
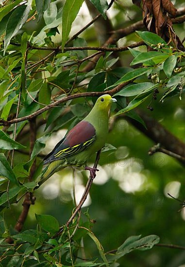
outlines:
M183 0L173 1L177 8L184 6ZM60 4L60 1L59 1ZM142 12L132 4L132 1L118 1L108 12L113 26L119 29L142 19ZM72 32L77 32L89 21L88 10L83 4L79 16L75 20ZM24 26L24 31L39 32L44 25L43 19L36 23L30 21ZM185 25L175 25L174 29L181 39L184 38ZM61 29L59 27L59 31ZM84 37L89 46L99 45L94 27L88 28ZM60 43L61 35L52 37L53 42ZM122 38L118 43L128 45L137 41L135 33ZM143 47L138 48L143 50ZM39 51L38 58L45 52ZM123 67L129 67L133 56L129 51L120 53ZM35 60L38 58L35 57ZM39 75L39 74L38 74ZM149 100L147 100L149 101ZM75 103L75 101L74 101ZM147 109L149 103L140 108L149 116L164 125L172 134L185 142L185 97L170 98L163 103L152 101L153 111ZM64 136L71 121L65 124L47 141L43 154L47 154ZM38 136L43 133L45 125L38 129ZM28 134L21 137L21 143L28 144ZM136 130L129 122L121 118L109 133L107 143L117 150L101 153L100 171L90 190L90 196L85 201L82 212L88 210L94 220L93 233L99 238L105 251L114 250L131 235L142 236L157 234L160 243L176 244L185 247L185 209L180 202L168 196L168 193L180 200L185 198L185 169L172 157L157 152L149 156L148 151L154 143L144 134ZM94 157L90 161L93 165ZM26 162L29 156L15 152L15 162ZM39 163L41 159L37 159ZM75 170L75 191L77 202L80 200L88 172ZM49 181L36 191L35 204L31 206L29 216L23 230L35 229L34 214L49 214L57 218L60 225L65 224L74 208L72 199L73 176L72 169L54 174ZM12 205L5 213L9 225L14 226L22 210L21 203ZM179 211L179 212L178 212ZM86 217L83 215L84 220ZM97 255L97 249L89 237L84 239L86 257ZM154 247L147 251L134 251L119 260L124 267L178 267L185 263L184 250Z

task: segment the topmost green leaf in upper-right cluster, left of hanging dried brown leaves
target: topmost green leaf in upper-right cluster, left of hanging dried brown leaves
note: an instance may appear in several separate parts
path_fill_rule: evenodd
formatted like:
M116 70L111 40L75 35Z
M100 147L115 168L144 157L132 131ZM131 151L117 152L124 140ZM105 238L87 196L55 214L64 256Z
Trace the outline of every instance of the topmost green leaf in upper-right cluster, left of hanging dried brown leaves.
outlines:
M136 33L138 33L141 39L143 39L143 41L149 46L151 46L151 44L157 45L158 43L167 44L163 38L161 38L159 35L155 33L139 32L139 31L136 31Z

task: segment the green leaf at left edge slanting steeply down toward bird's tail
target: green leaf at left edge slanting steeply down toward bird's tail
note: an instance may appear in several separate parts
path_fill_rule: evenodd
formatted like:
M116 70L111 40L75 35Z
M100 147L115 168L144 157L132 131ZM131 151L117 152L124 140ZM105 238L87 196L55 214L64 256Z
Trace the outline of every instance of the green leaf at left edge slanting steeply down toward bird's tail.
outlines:
M17 178L3 153L0 153L0 176L7 178L14 184L18 184Z

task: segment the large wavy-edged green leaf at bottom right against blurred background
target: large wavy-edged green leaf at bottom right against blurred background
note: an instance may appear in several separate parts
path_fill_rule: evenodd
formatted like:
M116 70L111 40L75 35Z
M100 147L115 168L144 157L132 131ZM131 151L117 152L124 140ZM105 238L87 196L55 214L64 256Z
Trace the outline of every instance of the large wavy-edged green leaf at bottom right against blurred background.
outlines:
M159 237L155 234L143 238L140 237L141 235L130 236L127 238L127 240L118 248L116 259L121 258L133 250L150 250L154 245L159 243Z

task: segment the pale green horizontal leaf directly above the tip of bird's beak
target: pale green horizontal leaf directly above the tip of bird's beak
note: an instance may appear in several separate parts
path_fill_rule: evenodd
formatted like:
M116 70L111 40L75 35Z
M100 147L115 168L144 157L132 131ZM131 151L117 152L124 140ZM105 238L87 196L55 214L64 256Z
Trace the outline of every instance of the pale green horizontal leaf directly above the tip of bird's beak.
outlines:
M144 94L157 87L154 83L136 83L125 86L121 91L116 93L114 96L131 97L139 94Z

